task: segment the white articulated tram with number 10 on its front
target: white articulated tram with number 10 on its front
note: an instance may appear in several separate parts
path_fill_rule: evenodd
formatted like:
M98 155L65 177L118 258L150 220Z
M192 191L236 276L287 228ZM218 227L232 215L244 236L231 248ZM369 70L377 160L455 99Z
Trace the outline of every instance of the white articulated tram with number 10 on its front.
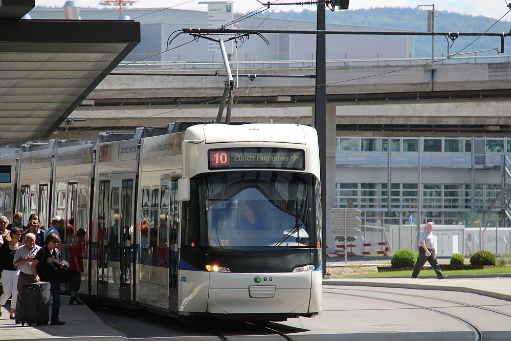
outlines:
M312 127L171 123L27 145L0 167L11 171L0 178L8 218L73 216L64 240L86 229L83 296L174 317L321 312Z

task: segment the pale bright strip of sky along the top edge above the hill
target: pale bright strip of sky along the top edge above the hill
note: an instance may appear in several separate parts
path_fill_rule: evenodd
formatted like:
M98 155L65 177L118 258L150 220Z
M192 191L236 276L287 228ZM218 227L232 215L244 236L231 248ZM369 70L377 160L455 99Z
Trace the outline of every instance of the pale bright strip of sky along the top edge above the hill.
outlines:
M207 0L202 0L207 1ZM177 9L190 9L205 11L207 5L199 5L199 0L139 0L136 4L132 5L133 8L154 8L154 7L172 7ZM262 2L268 2L268 0ZM303 0L307 1L307 0ZM417 5L431 5L435 4L435 9L438 11L450 11L461 14L483 15L495 19L499 19L509 9L507 3L511 0L350 0L350 9L361 8L374 8L374 7L411 7L415 8ZM104 7L99 5L100 0L78 0L80 7ZM299 0L270 0L272 3L295 3ZM507 2L507 3L506 3ZM63 6L65 0L36 0L36 6ZM257 0L238 0L234 1L233 8L236 13L247 13L249 11L257 10L262 5ZM270 10L273 10L272 7ZM304 9L315 10L316 5L286 5L276 6L276 11L302 11ZM431 6L424 7L425 10L431 9ZM511 22L511 13L507 14L504 19Z

